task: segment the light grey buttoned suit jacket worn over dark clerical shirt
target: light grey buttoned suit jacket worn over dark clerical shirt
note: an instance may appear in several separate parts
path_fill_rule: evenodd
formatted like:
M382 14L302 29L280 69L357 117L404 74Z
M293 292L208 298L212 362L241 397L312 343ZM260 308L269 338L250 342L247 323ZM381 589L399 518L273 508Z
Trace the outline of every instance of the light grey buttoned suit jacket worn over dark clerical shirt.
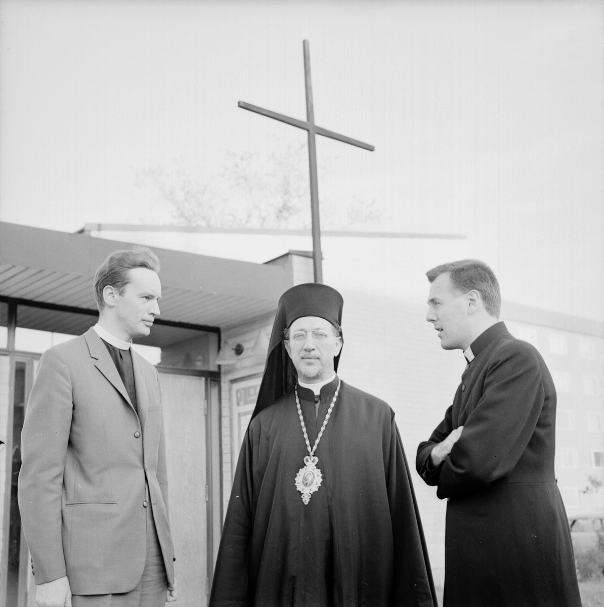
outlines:
M19 474L36 584L67 575L73 594L134 589L146 558L145 484L168 581L174 580L158 374L134 351L132 365L138 416L92 328L40 360Z

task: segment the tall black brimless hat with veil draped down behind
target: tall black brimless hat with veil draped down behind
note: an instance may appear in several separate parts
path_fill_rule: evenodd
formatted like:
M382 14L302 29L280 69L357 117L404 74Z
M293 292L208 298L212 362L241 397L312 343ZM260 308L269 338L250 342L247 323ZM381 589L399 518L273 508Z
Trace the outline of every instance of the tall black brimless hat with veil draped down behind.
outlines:
M296 285L283 293L277 307L262 384L260 384L252 418L278 398L293 390L296 385L296 367L283 345L283 331L290 327L294 320L302 316L319 316L331 324L341 325L343 306L344 300L338 291L314 282ZM340 354L333 359L333 368L336 371L339 359Z

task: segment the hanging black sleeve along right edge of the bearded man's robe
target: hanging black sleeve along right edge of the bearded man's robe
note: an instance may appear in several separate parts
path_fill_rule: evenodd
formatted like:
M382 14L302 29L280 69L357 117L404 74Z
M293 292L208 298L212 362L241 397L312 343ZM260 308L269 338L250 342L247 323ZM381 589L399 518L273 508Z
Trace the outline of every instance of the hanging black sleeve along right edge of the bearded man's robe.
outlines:
M436 607L436 592L428 549L409 465L394 418L390 439L390 467L387 478L394 542L393 605Z

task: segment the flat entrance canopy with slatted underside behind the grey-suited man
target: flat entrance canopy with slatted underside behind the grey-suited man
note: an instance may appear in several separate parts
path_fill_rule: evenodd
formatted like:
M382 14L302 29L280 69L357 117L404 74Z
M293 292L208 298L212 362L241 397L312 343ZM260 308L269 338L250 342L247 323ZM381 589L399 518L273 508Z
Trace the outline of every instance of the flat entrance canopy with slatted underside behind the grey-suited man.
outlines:
M71 312L77 316L83 311L81 322L86 324L85 311L97 310L92 293L95 271L112 251L131 246L0 222L0 296L21 300L21 304L78 308ZM161 262L159 320L181 323L182 331L194 329L191 325L228 328L274 313L283 291L293 285L287 266L151 248ZM61 321L51 312L46 310L44 316L58 327ZM38 322L42 322L41 313ZM160 325L154 332L158 330Z

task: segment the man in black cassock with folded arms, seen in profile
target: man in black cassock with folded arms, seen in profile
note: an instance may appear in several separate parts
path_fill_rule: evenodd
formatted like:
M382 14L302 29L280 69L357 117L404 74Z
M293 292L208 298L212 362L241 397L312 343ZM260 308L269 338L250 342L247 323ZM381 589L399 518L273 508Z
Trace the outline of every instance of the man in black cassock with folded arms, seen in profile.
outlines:
M426 320L467 366L416 467L447 498L446 607L581 605L571 534L554 475L556 393L535 348L498 322L483 262L427 272Z

